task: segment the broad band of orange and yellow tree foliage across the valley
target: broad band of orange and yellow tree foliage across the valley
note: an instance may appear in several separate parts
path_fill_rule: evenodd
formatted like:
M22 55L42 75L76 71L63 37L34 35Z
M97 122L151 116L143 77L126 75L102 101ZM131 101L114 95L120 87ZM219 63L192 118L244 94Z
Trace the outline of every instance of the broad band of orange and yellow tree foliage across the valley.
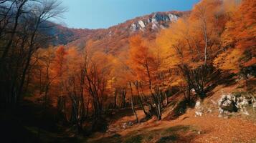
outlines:
M98 112L118 89L126 94L132 82L138 96L144 94L144 87L151 92L146 94L157 98L171 86L190 94L200 84L197 94L205 92L212 73L204 70L212 65L238 73L256 64L256 1L244 0L240 6L230 1L202 0L190 15L158 35L146 35L151 32L148 29L143 34L119 29L129 29L133 21L128 21L94 31L84 39L86 45L39 49L32 59L37 63L33 82L39 85L40 94L60 91L81 101L87 97L88 104L92 99Z

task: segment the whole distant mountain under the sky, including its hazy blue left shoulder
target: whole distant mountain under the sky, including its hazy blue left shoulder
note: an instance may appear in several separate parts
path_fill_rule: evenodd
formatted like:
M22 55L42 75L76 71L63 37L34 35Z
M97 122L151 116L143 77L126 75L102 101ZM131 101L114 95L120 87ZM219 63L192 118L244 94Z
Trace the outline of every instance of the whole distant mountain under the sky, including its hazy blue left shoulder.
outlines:
M87 41L91 40L93 48L118 54L120 50L128 49L130 36L142 34L147 39L155 39L158 31L166 29L172 22L186 14L189 14L189 11L156 12L125 21L108 29L68 29L64 26L56 26L52 29L56 38L54 45L65 44L82 49Z

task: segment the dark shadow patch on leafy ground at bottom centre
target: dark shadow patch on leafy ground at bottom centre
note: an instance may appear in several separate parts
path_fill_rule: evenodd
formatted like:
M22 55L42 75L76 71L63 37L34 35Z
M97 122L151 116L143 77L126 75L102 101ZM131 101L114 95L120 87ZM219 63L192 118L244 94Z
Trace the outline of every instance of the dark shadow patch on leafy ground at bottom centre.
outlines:
M100 139L90 140L87 142L111 142L111 143L141 143L141 142L192 142L194 137L198 134L199 130L191 126L174 126L165 129L153 129L146 128L137 131L133 131L125 137L120 134L113 134L108 137L102 137Z

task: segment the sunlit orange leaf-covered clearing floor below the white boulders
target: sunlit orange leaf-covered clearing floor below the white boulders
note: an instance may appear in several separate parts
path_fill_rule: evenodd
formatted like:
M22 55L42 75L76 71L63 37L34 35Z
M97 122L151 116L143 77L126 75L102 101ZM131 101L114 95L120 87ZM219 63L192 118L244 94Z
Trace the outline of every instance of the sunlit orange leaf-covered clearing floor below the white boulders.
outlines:
M122 122L131 118L123 117ZM171 121L152 119L128 129L122 129L122 122L109 125L114 132L95 133L87 142L256 142L256 122L242 115L223 119L214 112L194 117L190 109Z

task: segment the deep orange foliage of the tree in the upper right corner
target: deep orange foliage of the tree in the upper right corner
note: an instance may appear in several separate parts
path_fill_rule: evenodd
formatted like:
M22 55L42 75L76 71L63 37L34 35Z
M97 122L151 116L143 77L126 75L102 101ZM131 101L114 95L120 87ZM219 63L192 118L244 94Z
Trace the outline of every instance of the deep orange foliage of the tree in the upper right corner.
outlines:
M214 65L220 69L238 72L244 66L255 64L256 56L256 1L242 1L232 11L222 34L222 45L229 48L219 55ZM222 60L222 62L219 62Z

